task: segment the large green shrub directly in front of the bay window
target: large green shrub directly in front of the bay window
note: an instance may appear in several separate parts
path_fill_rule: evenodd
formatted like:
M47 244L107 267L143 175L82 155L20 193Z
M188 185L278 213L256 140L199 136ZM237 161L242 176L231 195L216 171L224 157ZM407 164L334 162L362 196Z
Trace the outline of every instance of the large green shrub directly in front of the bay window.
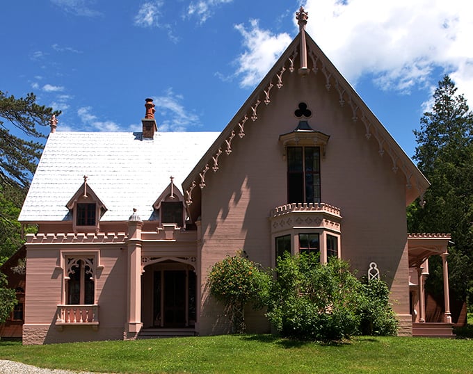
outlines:
M358 334L360 316L355 305L360 282L348 263L331 259L322 265L318 256L285 255L278 259L266 316L282 336L316 341Z

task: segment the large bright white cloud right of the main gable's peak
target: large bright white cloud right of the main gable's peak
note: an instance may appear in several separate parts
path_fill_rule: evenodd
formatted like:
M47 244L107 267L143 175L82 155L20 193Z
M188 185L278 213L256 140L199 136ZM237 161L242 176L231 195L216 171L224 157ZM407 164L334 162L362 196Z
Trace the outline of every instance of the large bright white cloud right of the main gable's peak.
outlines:
M355 85L408 92L450 74L473 99L473 2L464 0L307 0L307 31Z

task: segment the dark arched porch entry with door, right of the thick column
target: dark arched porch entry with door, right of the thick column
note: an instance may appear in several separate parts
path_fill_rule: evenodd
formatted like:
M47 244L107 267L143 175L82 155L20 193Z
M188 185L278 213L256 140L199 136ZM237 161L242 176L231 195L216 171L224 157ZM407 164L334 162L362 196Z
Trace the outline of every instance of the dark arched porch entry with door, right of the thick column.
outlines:
M178 257L143 257L141 320L144 328L195 327L195 261Z

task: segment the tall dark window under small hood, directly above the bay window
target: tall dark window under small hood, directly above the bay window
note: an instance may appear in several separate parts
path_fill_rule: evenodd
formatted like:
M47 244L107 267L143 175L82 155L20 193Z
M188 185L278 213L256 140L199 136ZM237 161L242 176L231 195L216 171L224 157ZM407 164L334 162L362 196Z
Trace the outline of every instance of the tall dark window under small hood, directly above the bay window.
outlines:
M287 202L321 202L319 147L287 147Z

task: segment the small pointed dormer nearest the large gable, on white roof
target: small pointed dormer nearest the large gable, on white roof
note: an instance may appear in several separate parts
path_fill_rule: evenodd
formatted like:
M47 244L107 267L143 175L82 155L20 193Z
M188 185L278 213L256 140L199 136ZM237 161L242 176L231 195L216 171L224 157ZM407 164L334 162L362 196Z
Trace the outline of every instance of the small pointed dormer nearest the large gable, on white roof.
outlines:
M184 227L186 222L186 209L184 204L184 195L174 184L173 177L171 182L159 195L153 204L153 208L158 212L160 225L175 224L177 227Z

